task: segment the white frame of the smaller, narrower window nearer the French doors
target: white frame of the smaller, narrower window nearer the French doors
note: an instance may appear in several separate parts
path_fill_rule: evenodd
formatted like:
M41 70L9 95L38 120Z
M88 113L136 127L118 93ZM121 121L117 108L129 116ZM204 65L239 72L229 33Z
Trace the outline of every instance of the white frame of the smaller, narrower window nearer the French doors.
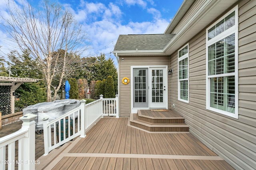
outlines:
M186 53L185 55L182 55L180 57L179 56L179 51L184 49L186 46L188 46L188 53ZM179 66L180 66L179 62L184 60L184 59L188 60L188 78L179 79L179 77L180 77L179 76ZM180 81L183 81L183 80L187 80L188 81L188 100L184 100L184 99L180 98ZM188 45L188 43L178 50L178 100L180 100L182 102L189 103L189 45Z

